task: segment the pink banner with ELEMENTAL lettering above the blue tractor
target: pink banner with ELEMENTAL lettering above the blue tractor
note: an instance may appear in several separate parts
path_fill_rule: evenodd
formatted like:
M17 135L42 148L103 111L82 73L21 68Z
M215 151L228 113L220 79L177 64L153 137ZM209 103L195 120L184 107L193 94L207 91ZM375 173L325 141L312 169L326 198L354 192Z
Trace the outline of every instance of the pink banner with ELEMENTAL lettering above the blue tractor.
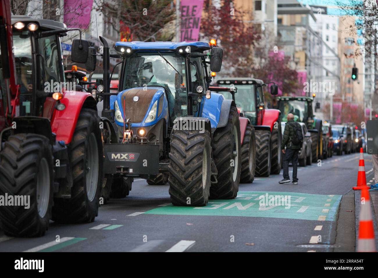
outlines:
M203 0L181 0L181 42L197 42Z

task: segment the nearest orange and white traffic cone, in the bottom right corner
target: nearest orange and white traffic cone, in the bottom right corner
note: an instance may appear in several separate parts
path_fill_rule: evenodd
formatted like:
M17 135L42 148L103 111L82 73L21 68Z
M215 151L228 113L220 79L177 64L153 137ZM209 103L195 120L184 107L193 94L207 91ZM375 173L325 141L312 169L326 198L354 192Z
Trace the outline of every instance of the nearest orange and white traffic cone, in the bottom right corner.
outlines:
M370 193L367 191L367 186L361 191L357 252L376 252Z

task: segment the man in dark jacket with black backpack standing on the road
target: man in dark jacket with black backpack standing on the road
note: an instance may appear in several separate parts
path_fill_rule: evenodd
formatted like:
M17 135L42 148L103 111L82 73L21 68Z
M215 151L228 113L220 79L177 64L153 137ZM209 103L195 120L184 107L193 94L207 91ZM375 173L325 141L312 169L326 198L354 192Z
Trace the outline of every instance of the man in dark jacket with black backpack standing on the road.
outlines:
M294 121L294 115L289 113L287 115L287 123L285 124L285 130L283 131L283 140L281 143L281 149L283 152L283 180L279 183L290 182L289 177L289 161L293 165L293 184L298 184L297 168L298 168L298 152L301 149L301 144L293 142L293 138L296 137L295 128L301 125ZM302 131L301 131L302 132ZM297 141L297 140L294 140ZM295 144L296 143L296 144ZM285 151L286 146L286 151Z

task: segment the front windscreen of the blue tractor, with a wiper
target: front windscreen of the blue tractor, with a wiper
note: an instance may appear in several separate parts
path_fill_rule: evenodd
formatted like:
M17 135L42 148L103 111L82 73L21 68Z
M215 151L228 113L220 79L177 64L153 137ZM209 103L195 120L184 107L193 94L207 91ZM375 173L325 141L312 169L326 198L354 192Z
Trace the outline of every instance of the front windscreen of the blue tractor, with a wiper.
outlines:
M171 116L174 109L175 114L186 115L184 57L175 53L154 52L135 53L127 58L121 90L148 86L161 86L166 89ZM177 111L177 107L181 107L181 112Z

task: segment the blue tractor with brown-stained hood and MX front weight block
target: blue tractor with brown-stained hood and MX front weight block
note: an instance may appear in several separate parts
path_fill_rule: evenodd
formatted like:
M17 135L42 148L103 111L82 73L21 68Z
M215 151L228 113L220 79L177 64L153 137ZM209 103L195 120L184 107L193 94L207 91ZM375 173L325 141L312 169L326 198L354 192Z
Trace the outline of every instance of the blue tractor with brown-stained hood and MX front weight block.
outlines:
M104 173L112 181L103 183L104 191L124 197L135 177L159 183L167 176L174 205L235 198L239 113L232 99L208 90L208 65L220 71L222 48L207 42L117 42L119 54L109 54L100 39L104 80L93 94L103 101ZM108 57L122 59L117 95L110 93Z

